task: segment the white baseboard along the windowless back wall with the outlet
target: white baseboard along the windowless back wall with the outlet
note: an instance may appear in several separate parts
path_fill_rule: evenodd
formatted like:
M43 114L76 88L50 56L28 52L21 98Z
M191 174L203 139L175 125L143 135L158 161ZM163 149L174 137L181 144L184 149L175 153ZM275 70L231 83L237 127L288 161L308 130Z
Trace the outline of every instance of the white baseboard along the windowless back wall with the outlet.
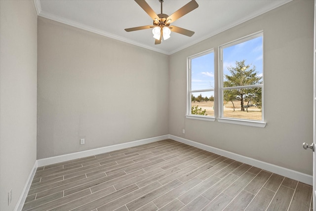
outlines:
M88 156L93 156L93 155L98 155L102 153L107 153L119 149L125 149L128 147L134 147L134 146L139 146L143 144L148 144L152 143L155 141L160 141L163 139L169 138L169 135L161 135L153 138L146 138L142 140L137 140L137 141L131 141L127 143L122 143L122 144L116 144L112 146L107 146L107 147L100 147L97 149L91 149L91 150L85 150L81 152L75 152L75 153L70 153L66 155L60 155L60 156L55 156L55 157L50 157L50 158L43 158L38 160L38 167L43 167L51 164L57 164L60 162L65 162L65 161L70 161L73 159L78 159L78 158L83 158L83 157L88 157Z

